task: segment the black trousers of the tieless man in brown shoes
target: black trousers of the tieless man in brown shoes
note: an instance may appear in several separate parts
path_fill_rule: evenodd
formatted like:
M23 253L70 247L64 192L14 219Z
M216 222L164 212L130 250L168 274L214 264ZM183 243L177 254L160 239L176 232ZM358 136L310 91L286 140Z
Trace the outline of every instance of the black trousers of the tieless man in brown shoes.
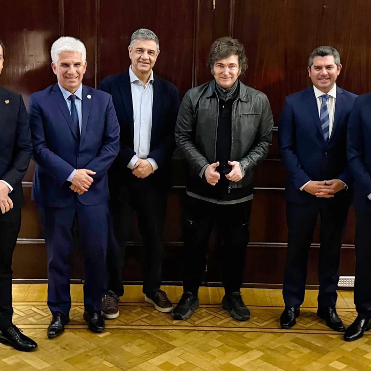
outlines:
M143 293L151 293L161 286L164 256L162 230L168 188L150 177L135 177L123 184L116 197L110 200L108 289L119 297L124 295L122 269L133 210L137 211L138 227L143 237Z

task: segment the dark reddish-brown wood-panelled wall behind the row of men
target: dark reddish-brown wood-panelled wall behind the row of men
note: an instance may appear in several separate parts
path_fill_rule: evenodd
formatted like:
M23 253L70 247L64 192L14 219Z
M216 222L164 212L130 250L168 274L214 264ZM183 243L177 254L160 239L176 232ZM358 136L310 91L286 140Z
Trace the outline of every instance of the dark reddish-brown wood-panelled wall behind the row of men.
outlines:
M145 11L143 11L145 10ZM369 0L72 0L3 1L0 39L6 45L0 84L28 96L56 82L50 67L50 46L61 35L80 38L87 47L88 68L84 83L95 87L111 74L130 65L127 47L138 28L153 30L160 39L161 53L154 71L174 83L181 94L211 79L206 65L211 43L231 35L245 45L249 68L242 81L262 90L270 99L275 128L266 161L255 170L256 193L251 216L244 282L248 285L279 285L286 254L284 184L286 171L278 151L279 115L284 97L310 85L306 65L310 51L320 44L340 51L343 69L338 85L355 93L371 90L371 17ZM146 16L148 14L148 16ZM305 17L303 16L305 14ZM339 29L339 25L341 28ZM181 280L183 245L182 199L187 167L178 151L173 155L174 177L164 227L164 281ZM24 177L25 206L19 244L14 254L17 279L45 279L46 252L36 205L31 200L35 164ZM341 274L354 274L354 210L348 218ZM142 239L134 215L124 279L139 282ZM218 231L210 243L206 284L220 282ZM308 283L316 284L319 225L308 263ZM72 277L83 278L77 247ZM25 264L25 262L27 264Z

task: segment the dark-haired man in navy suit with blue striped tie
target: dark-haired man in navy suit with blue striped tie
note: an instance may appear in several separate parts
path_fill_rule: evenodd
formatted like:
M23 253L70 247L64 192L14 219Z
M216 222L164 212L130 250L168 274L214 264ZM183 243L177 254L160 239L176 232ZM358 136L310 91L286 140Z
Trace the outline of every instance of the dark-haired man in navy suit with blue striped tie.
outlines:
M347 166L347 125L355 94L336 86L338 51L320 46L309 57L313 86L286 97L279 147L287 170L287 259L281 327L296 323L304 301L308 252L321 217L317 315L335 331L345 331L336 313L342 233L351 203L353 178Z

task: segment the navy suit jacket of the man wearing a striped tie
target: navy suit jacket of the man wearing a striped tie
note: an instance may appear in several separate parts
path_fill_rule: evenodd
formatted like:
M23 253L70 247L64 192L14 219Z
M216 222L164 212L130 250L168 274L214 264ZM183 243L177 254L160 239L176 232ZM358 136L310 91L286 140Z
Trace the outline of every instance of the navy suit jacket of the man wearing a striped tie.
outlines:
M300 187L309 180L330 179L340 179L352 187L353 178L347 166L347 124L355 98L355 94L337 87L334 125L325 143L313 87L286 97L278 138L288 172L287 201L305 204L350 197L349 189L336 193L332 199L319 199L300 191Z

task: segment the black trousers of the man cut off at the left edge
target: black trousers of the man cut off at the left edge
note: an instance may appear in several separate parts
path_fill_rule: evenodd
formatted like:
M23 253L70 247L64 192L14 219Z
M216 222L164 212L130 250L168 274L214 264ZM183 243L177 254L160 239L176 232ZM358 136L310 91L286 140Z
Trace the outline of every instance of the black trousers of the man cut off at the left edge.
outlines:
M12 325L12 258L20 221L20 208L0 214L0 330Z

